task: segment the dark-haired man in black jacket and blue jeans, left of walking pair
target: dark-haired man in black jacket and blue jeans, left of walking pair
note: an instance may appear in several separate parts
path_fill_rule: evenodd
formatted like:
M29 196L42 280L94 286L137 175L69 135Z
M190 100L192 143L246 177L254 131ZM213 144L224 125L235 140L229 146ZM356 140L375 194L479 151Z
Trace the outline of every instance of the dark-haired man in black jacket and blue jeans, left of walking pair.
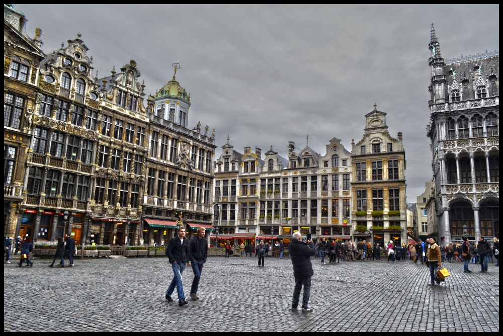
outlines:
M171 281L170 287L166 291L166 300L173 301L171 295L177 288L178 305L185 306L188 302L185 301L184 285L182 283L182 273L189 260L189 240L185 237L185 228L180 225L178 235L173 237L166 247L167 258L170 259L171 267L175 276Z

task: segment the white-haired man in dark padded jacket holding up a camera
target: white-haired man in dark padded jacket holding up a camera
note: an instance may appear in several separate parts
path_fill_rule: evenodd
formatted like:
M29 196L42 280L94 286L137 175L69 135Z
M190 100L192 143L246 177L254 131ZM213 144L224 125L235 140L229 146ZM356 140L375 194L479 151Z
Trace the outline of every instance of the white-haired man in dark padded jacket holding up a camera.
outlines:
M311 265L311 257L316 254L312 239L302 241L300 232L294 232L292 242L288 246L288 252L292 259L293 276L295 278L295 289L293 290L292 310L296 310L299 305L300 290L304 286L304 296L302 297L302 312L311 312L308 308L309 296L311 296L311 277L314 274Z

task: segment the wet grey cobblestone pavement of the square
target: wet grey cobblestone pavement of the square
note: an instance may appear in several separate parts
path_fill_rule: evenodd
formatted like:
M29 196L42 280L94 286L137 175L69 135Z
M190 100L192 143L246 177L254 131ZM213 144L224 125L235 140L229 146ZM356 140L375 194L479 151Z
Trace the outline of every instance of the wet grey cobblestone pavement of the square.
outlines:
M75 260L51 269L4 264L4 331L499 331L499 269L451 273L427 286L429 271L411 262L313 260L309 306L291 311L289 258L209 257L199 301L189 300L193 272L184 273L189 304L164 294L173 278L166 258ZM479 265L470 265L479 271ZM301 297L302 298L302 297Z

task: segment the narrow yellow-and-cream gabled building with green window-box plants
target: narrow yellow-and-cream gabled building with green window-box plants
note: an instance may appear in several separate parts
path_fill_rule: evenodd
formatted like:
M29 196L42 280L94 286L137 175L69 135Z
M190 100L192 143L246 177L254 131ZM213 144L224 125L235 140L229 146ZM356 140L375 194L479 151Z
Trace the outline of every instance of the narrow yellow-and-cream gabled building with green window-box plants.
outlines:
M353 143L353 225L362 236L384 245L407 242L405 150L402 133L388 133L386 113L365 115L365 133Z

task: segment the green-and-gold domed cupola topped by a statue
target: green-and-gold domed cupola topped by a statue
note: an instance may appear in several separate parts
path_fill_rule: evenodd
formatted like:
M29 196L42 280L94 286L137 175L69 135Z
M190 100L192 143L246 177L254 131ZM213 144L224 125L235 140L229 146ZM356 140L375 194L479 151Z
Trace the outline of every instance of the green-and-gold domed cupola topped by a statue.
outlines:
M191 106L190 94L176 79L177 69L181 69L180 64L174 63L173 67L175 68L173 79L155 93L152 113L159 119L187 127Z

